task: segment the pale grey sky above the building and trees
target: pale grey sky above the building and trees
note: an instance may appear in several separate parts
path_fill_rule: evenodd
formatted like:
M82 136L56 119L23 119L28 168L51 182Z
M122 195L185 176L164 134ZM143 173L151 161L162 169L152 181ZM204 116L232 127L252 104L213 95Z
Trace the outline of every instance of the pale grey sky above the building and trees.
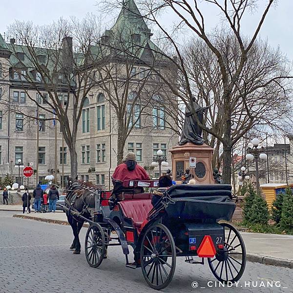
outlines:
M95 6L96 0L1 0L0 5L0 32L7 31L7 26L14 20L33 21L37 24L50 23L59 19L61 16L67 18L69 16L77 16L82 18L88 12L99 14L98 8ZM259 0L259 6L262 7L265 0ZM269 43L276 47L280 45L281 50L293 59L293 29L292 29L292 11L293 0L279 0L276 9L272 8L261 30L261 38L268 38ZM217 16L215 11L207 6L205 12L207 15L208 27L216 25ZM118 14L118 11L117 11ZM248 17L245 21L243 32L251 34L253 31L257 14ZM105 18L107 21L110 17ZM164 16L163 20L168 25L171 24L173 17Z

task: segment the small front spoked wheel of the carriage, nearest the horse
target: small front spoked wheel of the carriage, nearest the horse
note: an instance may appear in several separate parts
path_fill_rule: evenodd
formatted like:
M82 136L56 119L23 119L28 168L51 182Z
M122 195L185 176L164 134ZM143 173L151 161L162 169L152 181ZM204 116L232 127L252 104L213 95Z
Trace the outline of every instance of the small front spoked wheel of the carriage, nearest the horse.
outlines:
M105 257L105 234L99 224L92 224L85 235L85 257L92 268L98 268Z

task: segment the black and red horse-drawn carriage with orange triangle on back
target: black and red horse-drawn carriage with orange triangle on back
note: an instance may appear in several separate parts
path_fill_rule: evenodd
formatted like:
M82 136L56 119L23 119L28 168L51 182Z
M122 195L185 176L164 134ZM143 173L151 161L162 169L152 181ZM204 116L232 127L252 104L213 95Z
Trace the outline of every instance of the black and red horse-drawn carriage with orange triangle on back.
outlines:
M147 284L157 290L172 280L179 256L188 264L204 264L207 258L219 281L239 280L246 264L244 242L234 227L219 223L229 221L235 209L231 186L175 185L153 207L151 190L157 186L158 181L124 181L122 196L114 203L110 191L92 189L95 209L90 220L74 213L90 224L85 236L88 264L99 267L108 247L120 245L126 267L141 267ZM133 264L128 261L129 245Z

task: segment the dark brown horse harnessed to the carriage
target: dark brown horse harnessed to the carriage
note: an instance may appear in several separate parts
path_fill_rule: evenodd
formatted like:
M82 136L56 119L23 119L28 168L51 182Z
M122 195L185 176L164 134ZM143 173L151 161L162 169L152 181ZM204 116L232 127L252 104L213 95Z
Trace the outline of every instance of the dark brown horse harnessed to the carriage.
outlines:
M74 250L74 254L80 254L81 243L79 233L84 225L84 219L80 215L86 219L91 218L88 209L95 208L95 190L93 188L89 189L89 186L85 187L83 183L69 176L67 176L66 189L65 207L68 209L66 209L66 215L74 235L70 250Z

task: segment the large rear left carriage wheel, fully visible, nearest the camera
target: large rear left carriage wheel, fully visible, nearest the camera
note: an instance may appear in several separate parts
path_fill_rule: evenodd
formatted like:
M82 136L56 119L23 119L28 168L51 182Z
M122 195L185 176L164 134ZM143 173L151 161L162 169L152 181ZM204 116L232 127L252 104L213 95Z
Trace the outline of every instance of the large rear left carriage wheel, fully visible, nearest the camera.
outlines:
M147 284L157 290L171 282L176 266L176 248L171 232L154 224L143 235L140 250L143 275Z

